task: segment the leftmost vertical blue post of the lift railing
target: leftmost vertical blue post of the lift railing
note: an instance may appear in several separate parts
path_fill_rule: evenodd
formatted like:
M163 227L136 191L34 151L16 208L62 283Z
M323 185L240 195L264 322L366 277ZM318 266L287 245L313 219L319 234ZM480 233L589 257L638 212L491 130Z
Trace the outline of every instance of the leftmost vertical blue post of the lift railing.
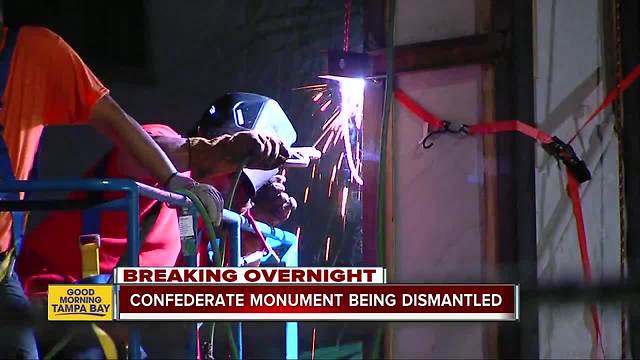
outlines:
M139 266L138 256L140 254L140 191L134 186L127 194L127 265ZM129 359L140 359L140 330L132 325L129 327Z

